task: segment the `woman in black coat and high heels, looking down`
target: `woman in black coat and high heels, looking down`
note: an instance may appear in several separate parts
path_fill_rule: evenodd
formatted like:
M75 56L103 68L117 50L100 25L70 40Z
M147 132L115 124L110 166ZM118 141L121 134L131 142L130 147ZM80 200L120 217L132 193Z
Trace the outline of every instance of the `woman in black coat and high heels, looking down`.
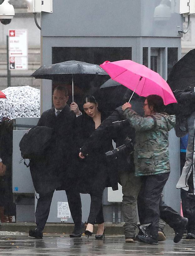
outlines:
M85 113L79 116L78 121L78 141L79 148L90 137L93 131L106 119L108 115L105 112L97 109L97 102L92 95L87 95L83 100L83 109ZM113 149L112 139L105 139L98 141L100 147L96 151L90 151L87 157L83 156L83 152L87 151L87 145L82 147L79 157L82 158L82 168L80 169L80 177L77 184L77 189L81 193L88 193L91 196L90 213L87 220L87 227L85 234L92 236L93 226L98 224L96 239L101 239L104 236L104 218L102 195L105 187L111 184L113 190L118 189L118 177L114 173L115 168L108 169L108 163L104 155L105 151ZM85 158L85 159L84 159ZM110 171L112 173L110 173Z

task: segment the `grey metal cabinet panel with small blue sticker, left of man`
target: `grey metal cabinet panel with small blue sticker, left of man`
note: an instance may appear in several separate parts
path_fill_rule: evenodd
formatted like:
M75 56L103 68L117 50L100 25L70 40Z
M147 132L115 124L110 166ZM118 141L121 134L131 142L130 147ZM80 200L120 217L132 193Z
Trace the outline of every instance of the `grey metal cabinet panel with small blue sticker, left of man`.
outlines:
M30 169L24 165L21 160L19 142L27 131L13 131L13 173L12 189L14 193L34 193L33 181L30 175ZM28 160L27 160L28 163Z

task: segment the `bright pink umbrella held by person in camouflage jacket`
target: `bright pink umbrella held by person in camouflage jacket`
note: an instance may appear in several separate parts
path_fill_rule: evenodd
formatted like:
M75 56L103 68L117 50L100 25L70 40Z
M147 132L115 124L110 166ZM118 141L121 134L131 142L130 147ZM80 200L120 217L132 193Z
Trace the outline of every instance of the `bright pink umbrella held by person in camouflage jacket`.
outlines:
M157 94L162 97L165 105L177 103L168 83L158 73L144 65L130 60L121 60L105 61L100 67L113 80L123 84L140 96L147 97L150 94Z

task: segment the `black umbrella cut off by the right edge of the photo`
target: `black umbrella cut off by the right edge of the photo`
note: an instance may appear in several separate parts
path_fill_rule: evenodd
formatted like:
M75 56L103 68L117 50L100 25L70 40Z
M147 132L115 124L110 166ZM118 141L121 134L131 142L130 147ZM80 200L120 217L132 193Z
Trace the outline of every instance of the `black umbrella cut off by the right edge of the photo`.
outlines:
M172 91L195 86L195 49L183 56L171 69L167 83Z

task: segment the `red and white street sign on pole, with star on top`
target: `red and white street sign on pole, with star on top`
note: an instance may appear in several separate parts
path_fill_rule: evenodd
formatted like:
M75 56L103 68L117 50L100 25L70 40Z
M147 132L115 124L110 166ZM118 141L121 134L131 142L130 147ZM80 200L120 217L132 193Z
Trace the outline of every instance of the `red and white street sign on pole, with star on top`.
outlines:
M9 29L9 69L28 69L27 29Z

